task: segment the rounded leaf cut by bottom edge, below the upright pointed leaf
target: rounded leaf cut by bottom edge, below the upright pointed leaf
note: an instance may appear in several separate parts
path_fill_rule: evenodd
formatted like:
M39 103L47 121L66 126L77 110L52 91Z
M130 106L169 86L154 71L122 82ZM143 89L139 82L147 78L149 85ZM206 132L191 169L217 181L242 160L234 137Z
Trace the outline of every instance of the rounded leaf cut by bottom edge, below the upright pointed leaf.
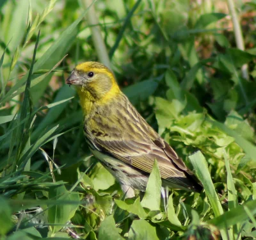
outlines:
M159 240L156 234L156 228L145 220L132 221L131 228L128 233L128 240Z

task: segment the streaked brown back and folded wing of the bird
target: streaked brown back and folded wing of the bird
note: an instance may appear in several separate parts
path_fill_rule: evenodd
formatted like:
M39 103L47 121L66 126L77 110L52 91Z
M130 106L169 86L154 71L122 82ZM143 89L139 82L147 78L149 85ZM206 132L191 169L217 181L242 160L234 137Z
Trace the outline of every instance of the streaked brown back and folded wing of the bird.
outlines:
M108 120L104 117L107 113ZM156 159L163 179L192 187L192 182L186 179L193 173L128 100L125 106L120 104L118 108L109 108L105 115L95 115L88 128L87 137L100 151L147 173L152 171Z

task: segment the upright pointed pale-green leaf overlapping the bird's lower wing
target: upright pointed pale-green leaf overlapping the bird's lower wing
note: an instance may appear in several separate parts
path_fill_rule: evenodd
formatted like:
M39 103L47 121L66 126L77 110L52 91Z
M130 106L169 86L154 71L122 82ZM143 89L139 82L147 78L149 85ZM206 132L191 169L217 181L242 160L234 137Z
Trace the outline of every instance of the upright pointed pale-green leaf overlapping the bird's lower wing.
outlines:
M148 178L145 195L141 200L141 205L151 211L160 209L161 202L161 176L157 161L155 160L152 172Z

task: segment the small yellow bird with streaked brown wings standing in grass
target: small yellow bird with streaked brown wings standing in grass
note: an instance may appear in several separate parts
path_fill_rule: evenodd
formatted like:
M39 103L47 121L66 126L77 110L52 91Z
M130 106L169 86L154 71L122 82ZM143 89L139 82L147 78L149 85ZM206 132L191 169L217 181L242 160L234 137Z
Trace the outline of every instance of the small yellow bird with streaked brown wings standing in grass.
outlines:
M195 175L136 111L108 67L95 61L81 63L66 83L77 86L90 150L127 197L134 196L133 189L145 191L155 159L163 186L201 191Z

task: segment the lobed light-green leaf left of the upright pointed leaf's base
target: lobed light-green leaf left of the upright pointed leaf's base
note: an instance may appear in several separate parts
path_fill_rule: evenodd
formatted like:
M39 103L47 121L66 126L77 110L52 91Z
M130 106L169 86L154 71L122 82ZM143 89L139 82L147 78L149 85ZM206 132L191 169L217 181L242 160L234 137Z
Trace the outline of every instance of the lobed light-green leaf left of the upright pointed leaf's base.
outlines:
M116 205L120 207L120 209L124 209L127 212L131 212L133 214L136 214L139 216L139 218L146 218L147 214L144 211L143 207L141 206L140 203L140 198L137 198L134 202L134 204L127 204L122 200L115 199Z

